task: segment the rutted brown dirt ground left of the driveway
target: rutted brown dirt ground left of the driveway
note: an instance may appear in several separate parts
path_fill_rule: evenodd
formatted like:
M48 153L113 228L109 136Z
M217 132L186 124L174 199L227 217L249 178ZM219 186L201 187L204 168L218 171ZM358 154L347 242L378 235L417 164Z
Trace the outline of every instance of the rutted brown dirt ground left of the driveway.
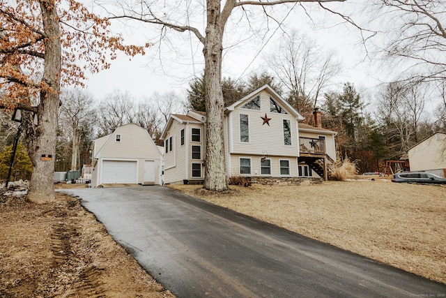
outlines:
M75 198L8 198L0 215L0 297L174 297Z

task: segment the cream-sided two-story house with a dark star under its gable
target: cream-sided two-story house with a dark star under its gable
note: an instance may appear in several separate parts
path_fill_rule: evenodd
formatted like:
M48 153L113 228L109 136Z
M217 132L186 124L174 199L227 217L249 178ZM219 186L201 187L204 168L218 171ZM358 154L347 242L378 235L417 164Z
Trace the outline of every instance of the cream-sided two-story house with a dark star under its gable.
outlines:
M336 159L335 132L299 124L303 117L270 86L265 85L224 111L224 147L229 177L321 177ZM203 180L206 114L172 114L162 133L164 181ZM316 174L317 173L317 174Z

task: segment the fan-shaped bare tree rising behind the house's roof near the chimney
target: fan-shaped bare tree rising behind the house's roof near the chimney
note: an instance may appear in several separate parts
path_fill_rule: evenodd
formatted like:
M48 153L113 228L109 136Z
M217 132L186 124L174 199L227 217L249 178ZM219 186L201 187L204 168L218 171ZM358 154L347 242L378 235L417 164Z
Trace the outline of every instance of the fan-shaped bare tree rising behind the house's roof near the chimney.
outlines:
M311 119L318 98L341 69L334 52L323 50L307 34L284 33L267 63L288 89L288 100Z

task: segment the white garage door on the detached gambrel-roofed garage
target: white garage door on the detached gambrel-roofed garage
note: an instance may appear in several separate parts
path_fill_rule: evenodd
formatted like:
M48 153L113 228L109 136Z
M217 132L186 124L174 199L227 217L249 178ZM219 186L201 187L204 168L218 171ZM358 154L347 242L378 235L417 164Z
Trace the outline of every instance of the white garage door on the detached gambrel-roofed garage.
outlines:
M103 161L102 184L136 184L138 177L136 161Z

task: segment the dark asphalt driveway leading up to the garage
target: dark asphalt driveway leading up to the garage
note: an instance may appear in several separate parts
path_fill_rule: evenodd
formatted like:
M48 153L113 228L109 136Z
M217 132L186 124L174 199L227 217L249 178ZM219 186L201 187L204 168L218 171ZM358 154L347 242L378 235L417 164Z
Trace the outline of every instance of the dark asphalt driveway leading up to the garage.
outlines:
M446 297L446 285L164 186L63 192L178 297Z

